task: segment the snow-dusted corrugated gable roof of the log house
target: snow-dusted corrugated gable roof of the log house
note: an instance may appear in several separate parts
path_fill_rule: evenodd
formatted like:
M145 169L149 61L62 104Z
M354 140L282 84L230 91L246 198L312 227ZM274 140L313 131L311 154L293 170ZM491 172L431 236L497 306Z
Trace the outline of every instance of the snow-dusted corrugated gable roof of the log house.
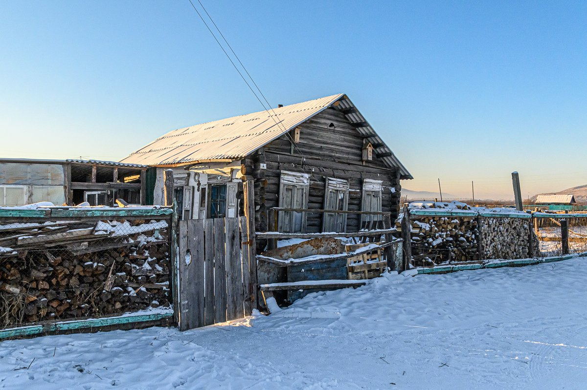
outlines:
M402 179L413 179L345 94L173 130L121 163L177 166L244 158L328 107L343 110L349 121L357 124L357 131L373 143L387 166L399 168Z

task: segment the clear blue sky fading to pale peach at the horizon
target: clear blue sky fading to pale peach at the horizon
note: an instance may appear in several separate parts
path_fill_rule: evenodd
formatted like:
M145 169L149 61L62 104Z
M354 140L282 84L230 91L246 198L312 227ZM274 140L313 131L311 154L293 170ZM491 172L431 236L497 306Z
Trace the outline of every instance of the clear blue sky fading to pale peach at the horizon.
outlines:
M272 105L348 94L406 188L587 184L587 2L202 1ZM2 157L117 160L262 109L188 0L2 1L0 75Z

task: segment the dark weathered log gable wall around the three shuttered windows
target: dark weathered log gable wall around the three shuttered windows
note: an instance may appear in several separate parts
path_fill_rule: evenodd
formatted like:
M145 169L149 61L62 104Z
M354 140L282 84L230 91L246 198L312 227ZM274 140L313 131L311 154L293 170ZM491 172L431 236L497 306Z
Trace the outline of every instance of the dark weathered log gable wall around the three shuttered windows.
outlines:
M328 108L300 127L299 143L292 143L284 135L242 160L243 173L255 181L257 231L267 230L267 210L279 206L282 170L311 175L308 208L316 209L324 206L326 177L349 180L348 210L352 211L360 211L363 180L382 180L383 211L389 211L393 219L397 217L401 191L399 171L385 166L376 155L363 163L364 139L342 112ZM266 164L266 169L261 164ZM360 216L349 214L347 231L357 231L359 227ZM308 214L306 232L321 230L322 214Z

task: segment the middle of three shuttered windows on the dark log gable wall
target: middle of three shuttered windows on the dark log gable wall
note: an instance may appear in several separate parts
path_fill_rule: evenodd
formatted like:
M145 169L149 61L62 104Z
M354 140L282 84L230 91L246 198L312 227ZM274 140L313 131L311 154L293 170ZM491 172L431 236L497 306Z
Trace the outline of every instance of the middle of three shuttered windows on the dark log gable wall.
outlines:
M326 178L324 194L325 210L348 210L349 206L349 181L344 179ZM346 214L324 213L322 231L345 232Z

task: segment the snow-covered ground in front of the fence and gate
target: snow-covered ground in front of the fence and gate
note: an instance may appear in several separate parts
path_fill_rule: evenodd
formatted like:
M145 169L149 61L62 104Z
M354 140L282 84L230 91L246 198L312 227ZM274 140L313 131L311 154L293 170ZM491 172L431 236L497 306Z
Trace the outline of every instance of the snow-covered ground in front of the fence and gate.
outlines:
M386 275L237 324L4 341L0 388L585 389L585 275Z

